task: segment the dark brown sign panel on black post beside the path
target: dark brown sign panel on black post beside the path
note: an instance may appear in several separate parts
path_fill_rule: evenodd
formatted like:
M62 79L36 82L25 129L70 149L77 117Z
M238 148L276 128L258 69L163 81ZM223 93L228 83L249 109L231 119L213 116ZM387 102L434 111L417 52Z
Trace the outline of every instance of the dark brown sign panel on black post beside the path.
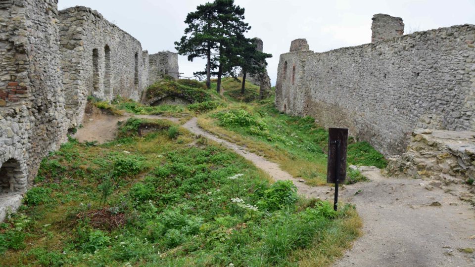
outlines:
M335 184L333 210L338 208L338 185L346 178L346 147L348 146L348 129L328 129L328 164L327 183Z

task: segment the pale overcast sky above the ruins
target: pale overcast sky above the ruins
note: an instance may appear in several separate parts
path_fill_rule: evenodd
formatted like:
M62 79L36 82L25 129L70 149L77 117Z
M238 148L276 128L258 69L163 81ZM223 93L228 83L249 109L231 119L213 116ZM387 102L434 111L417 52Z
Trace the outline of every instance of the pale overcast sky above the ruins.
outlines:
M211 0L208 0L211 1ZM59 0L59 9L84 5L96 9L142 43L150 54L175 50L186 27L187 14L206 0ZM275 85L279 55L290 42L306 38L315 52L371 42L371 18L384 13L402 17L405 33L459 24L475 24L475 0L235 0L245 8L264 52L273 54L267 69ZM205 61L178 58L180 72L192 76Z

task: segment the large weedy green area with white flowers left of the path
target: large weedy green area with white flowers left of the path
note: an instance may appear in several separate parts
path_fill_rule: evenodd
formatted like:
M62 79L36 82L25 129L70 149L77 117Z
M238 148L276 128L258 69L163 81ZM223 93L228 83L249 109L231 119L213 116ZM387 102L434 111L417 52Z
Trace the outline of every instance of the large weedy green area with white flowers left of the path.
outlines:
M156 132L134 134L146 123ZM43 160L38 189L0 223L0 266L330 266L359 235L354 207L298 197L177 125L121 131Z

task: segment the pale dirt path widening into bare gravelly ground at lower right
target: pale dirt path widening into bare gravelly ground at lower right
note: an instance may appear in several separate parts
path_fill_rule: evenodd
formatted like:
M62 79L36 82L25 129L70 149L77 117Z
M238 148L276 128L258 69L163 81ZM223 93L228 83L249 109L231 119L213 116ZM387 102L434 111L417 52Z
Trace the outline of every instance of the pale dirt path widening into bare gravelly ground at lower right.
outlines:
M276 180L292 180L299 193L332 199L333 188L308 186L282 171L278 164L203 131L196 121L193 118L183 127L234 150ZM364 168L362 174L372 181L345 185L340 192L346 202L357 206L364 235L335 266L475 266L473 253L458 250L475 248L475 239L470 239L475 235L473 207L441 189L428 191L420 179L384 178L377 168Z

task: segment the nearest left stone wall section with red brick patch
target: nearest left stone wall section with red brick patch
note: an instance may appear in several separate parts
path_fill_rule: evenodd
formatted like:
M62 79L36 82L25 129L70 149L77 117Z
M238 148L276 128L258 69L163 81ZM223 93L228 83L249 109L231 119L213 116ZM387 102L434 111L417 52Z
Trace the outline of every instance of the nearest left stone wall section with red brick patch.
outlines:
M0 32L1 194L31 186L41 159L64 140L66 124L57 0L1 1Z

